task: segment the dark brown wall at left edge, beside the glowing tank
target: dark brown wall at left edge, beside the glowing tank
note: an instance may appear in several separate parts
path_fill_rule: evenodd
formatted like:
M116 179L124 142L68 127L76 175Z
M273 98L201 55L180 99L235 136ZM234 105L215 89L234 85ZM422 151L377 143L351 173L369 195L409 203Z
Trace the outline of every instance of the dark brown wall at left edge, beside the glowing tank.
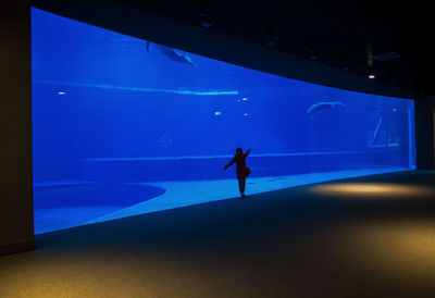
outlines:
M29 8L10 2L0 17L0 256L34 247Z

